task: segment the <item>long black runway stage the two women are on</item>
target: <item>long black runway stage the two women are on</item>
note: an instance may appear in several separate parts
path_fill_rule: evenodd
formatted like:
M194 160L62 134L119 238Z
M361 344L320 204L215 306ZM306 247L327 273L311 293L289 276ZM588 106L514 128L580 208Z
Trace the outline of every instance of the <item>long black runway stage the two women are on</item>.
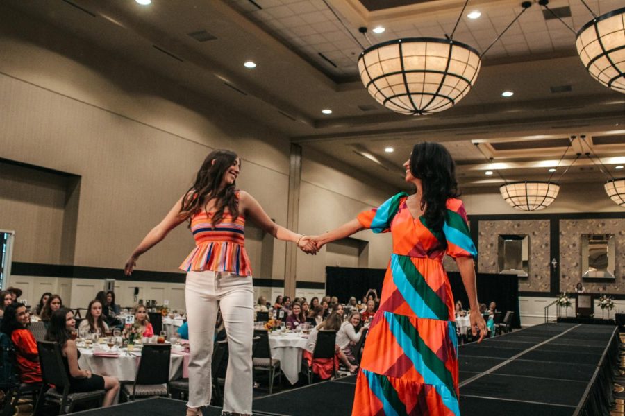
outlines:
M617 327L542 324L458 348L462 416L608 415ZM253 401L254 415L349 416L356 376ZM184 404L148 399L79 414L183 415ZM204 415L219 415L208 408Z

